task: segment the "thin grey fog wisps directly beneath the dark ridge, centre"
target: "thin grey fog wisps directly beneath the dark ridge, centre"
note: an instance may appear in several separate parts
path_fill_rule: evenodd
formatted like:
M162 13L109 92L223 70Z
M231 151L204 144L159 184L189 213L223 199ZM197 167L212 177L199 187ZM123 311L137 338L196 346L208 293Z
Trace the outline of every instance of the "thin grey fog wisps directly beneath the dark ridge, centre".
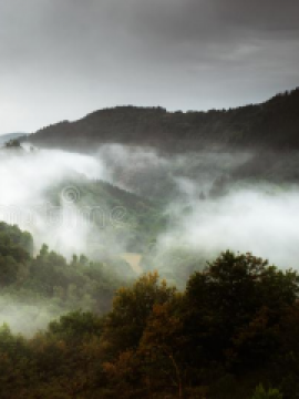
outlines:
M218 178L229 176L252 157L249 152L169 154L121 144L103 145L96 155L107 165L114 184L172 205L207 194Z

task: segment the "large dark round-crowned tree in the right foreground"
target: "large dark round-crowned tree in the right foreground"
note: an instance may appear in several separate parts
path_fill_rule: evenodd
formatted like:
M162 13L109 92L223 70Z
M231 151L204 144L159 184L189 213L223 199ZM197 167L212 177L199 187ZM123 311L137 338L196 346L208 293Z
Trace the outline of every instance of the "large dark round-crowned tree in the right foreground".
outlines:
M251 254L221 254L187 283L190 348L205 360L257 366L276 345L276 326L297 294L297 273L278 270Z

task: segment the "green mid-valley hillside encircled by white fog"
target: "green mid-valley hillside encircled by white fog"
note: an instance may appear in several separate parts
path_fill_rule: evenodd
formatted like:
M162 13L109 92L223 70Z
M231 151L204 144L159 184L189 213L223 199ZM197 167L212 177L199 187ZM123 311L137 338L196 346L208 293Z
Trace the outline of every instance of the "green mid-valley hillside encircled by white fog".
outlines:
M59 208L64 200L66 206L75 206L84 214L90 235L86 250L95 258L103 257L112 248L143 252L167 224L157 201L80 175L51 186L47 197Z

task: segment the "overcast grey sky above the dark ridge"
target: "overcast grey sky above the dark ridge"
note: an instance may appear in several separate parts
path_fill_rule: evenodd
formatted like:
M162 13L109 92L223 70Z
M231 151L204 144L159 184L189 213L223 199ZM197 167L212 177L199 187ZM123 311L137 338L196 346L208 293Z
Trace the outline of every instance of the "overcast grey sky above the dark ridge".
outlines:
M0 0L0 134L262 102L299 85L298 17L298 0Z

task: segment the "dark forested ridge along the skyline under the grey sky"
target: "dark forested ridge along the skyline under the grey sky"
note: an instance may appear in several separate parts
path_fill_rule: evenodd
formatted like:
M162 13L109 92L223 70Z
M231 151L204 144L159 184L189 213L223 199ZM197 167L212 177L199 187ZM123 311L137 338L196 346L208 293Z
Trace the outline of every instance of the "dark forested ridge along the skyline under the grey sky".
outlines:
M92 150L102 143L194 150L204 146L299 149L299 88L269 101L230 110L167 112L162 108L117 106L63 121L30 136L48 147Z

